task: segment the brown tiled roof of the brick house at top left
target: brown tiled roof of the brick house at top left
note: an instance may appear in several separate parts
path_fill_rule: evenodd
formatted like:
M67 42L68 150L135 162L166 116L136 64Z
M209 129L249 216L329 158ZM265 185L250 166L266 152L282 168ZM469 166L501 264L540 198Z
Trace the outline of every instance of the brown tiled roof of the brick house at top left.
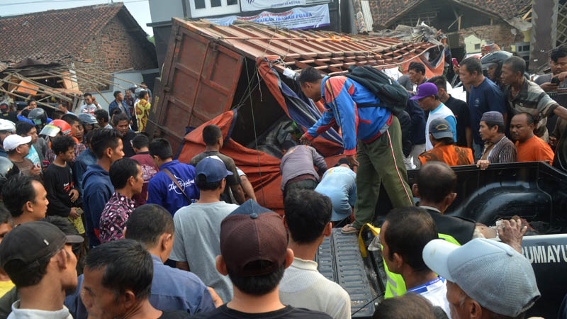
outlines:
M80 6L0 18L0 60L28 57L60 62L78 57L106 24L120 14L133 32L146 33L124 4Z

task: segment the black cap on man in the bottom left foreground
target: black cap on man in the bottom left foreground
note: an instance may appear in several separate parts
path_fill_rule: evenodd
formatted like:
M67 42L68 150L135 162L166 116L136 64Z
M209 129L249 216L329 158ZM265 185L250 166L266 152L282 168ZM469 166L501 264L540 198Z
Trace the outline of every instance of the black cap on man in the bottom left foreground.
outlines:
M78 235L65 235L57 226L44 221L33 221L18 225L0 244L0 267L8 262L20 260L27 267L43 262L61 250L65 244L83 242Z

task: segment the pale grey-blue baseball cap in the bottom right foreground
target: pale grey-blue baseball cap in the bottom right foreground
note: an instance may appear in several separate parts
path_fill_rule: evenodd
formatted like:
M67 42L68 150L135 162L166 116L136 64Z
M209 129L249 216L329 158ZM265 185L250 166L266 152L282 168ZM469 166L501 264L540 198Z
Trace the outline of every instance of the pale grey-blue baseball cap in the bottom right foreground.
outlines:
M494 313L516 317L541 296L532 264L503 242L477 238L459 247L432 240L422 254L427 267Z

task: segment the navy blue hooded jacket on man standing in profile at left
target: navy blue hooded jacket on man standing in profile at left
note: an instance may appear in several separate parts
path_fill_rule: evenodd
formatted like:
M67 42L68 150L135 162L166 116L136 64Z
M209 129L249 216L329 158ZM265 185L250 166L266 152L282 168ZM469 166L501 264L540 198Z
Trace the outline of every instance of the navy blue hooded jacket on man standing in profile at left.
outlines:
M86 233L91 246L100 245L99 221L106 203L114 193L108 172L99 164L92 164L83 175L83 207L86 220Z

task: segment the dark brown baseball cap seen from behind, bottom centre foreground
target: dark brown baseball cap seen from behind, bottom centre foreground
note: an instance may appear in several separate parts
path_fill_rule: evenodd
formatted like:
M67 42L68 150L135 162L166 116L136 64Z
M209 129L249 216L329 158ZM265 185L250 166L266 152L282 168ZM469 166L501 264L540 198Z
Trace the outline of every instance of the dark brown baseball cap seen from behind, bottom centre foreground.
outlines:
M275 272L286 261L288 235L281 216L249 199L220 223L220 253L239 276ZM269 262L255 267L257 262Z

